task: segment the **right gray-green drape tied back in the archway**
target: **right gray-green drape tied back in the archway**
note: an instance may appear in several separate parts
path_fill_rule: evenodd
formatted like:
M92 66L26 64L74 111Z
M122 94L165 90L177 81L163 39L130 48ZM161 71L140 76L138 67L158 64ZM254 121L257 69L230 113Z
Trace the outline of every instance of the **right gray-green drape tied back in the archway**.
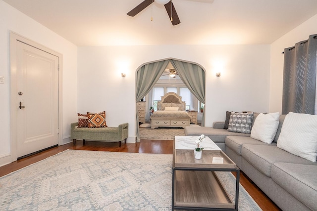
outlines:
M197 64L171 59L170 62L176 69L179 78L195 97L205 104L205 71ZM205 109L203 112L202 126L205 125Z

